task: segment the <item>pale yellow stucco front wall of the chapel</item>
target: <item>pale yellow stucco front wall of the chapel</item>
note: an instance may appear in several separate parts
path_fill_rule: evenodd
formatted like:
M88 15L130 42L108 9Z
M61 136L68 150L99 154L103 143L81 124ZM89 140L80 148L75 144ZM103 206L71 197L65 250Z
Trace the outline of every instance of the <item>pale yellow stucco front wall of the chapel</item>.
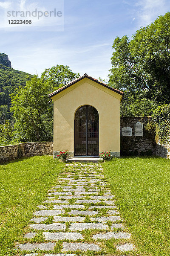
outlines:
M54 101L54 151L74 152L74 115L82 105L91 105L99 113L99 151L120 151L119 103L121 95L82 79L51 99Z

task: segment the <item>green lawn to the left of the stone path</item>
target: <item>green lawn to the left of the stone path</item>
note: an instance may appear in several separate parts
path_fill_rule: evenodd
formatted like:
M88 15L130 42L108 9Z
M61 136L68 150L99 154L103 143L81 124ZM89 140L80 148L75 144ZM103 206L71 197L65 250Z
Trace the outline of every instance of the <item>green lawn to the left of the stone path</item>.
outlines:
M16 254L15 241L23 236L63 166L49 156L0 165L0 256Z

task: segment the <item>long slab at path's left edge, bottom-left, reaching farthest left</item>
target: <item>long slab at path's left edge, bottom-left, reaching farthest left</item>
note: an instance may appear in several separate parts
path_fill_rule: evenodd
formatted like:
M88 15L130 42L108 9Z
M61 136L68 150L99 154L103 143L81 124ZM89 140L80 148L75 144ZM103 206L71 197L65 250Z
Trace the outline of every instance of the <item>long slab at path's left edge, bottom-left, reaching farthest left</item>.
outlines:
M16 248L20 250L53 250L56 246L55 243L41 243L41 244L17 244Z

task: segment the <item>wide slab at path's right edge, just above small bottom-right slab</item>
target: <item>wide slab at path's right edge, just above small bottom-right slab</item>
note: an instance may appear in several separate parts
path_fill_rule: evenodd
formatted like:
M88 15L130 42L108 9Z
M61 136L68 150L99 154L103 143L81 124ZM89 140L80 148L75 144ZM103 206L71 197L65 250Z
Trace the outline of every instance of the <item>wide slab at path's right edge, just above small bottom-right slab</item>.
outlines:
M114 238L114 239L129 239L130 238L130 234L128 233L125 233L125 232L108 232L108 233L105 233L105 234L96 234L94 235L92 238L94 240L97 240L97 239L111 239L111 238Z

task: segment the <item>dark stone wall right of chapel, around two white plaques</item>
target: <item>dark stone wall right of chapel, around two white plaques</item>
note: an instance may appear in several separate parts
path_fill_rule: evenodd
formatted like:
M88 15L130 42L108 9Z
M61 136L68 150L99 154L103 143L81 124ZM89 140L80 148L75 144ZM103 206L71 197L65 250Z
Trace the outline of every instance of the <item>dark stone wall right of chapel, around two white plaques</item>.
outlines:
M141 154L142 151L148 151L155 154L155 138L146 129L145 125L151 121L151 117L121 117L120 118L120 154ZM134 136L134 124L136 122L143 123L143 137ZM131 127L132 136L122 136L122 128ZM142 152L143 153L143 152Z

